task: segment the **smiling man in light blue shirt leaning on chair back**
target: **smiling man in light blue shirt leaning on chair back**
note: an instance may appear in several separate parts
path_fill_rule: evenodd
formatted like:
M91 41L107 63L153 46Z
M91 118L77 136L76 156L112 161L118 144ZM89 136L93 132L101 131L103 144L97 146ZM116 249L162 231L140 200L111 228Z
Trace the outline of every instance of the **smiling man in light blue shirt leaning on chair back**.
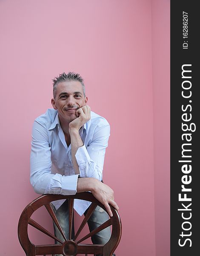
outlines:
M118 210L114 193L101 182L109 123L86 105L88 99L79 74L62 73L53 79L53 96L53 109L48 109L34 121L31 184L38 194L74 195L76 192L91 191L112 216L109 204ZM86 213L89 205L87 201L74 200L74 209L80 215ZM66 237L69 237L68 203L55 201L54 207ZM99 208L88 221L90 230L109 218ZM56 226L54 232L63 240ZM105 244L109 238L110 229L107 228L94 235L92 241Z

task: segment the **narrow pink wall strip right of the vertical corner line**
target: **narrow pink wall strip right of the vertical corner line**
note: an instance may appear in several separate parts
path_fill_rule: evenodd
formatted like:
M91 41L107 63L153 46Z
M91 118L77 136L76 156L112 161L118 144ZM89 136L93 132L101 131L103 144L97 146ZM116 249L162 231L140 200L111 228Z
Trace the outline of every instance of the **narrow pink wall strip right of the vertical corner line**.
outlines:
M170 1L152 0L156 255L170 255Z

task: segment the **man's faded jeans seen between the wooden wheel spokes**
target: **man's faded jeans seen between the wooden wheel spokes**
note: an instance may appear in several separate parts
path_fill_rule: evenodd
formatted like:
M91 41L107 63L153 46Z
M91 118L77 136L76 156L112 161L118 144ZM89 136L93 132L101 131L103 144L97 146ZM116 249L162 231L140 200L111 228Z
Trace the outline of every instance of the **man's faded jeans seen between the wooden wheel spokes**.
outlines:
M62 227L66 238L69 239L69 206L68 206L68 200L66 200L57 210L54 208L55 215L60 222L60 226ZM84 213L86 215L88 209ZM109 215L107 212L105 212L101 207L97 206L92 215L90 216L88 220L89 230L90 232L94 230L95 228L99 227L101 224L106 222L109 219ZM60 231L54 224L54 233L55 236L60 239L61 241L64 241L63 236L61 235ZM96 233L94 236L91 236L91 241L93 244L106 244L111 237L111 228L107 227L104 230L101 230L100 232ZM72 224L72 234L71 238L74 238L74 221ZM84 241L83 241L84 243ZM57 241L55 241L55 244L58 244ZM61 256L60 254L56 254L55 256ZM101 256L99 254L99 256ZM115 254L113 253L113 256Z

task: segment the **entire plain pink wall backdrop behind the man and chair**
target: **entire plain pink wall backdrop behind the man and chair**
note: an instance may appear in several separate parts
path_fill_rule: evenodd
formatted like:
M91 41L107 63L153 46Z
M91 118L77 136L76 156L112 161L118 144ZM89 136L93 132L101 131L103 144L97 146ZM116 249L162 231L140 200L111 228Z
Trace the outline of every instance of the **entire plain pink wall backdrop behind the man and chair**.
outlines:
M2 255L25 255L31 127L51 108L51 79L74 71L111 125L103 180L120 207L117 256L169 256L169 28L169 0L0 1Z

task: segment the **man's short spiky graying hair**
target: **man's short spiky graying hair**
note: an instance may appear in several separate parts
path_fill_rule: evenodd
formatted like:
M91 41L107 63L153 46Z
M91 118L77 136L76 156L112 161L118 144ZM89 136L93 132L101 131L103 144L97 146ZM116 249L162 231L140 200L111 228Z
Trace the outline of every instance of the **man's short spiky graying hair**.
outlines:
M52 79L52 81L53 81L54 99L56 98L57 85L60 82L67 82L67 81L79 81L83 87L83 95L84 95L84 97L86 96L85 85L83 84L83 78L80 76L80 74L76 74L74 72L69 72L66 74L65 72L63 72L59 76L54 77L54 79Z

